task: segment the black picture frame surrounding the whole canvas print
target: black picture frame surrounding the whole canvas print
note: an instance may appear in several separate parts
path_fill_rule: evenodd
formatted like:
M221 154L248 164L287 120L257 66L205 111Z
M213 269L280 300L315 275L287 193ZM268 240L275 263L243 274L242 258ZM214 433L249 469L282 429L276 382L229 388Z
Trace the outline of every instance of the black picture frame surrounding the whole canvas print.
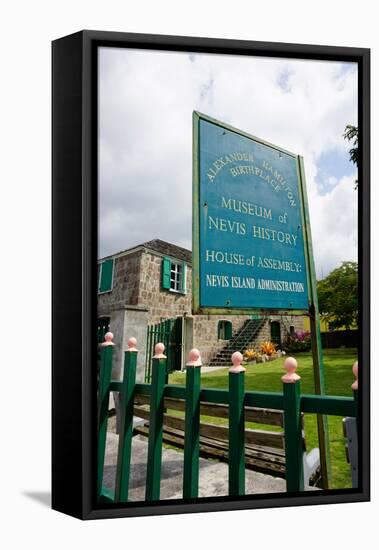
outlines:
M288 495L97 505L97 49L101 46L358 64L359 487ZM52 508L81 519L370 499L370 50L85 30L52 44Z

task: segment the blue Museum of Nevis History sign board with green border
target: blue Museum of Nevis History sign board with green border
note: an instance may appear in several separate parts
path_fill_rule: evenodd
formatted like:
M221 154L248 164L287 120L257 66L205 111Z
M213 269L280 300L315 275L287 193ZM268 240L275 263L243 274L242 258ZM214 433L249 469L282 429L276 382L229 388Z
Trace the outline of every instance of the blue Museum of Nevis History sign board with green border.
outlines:
M298 157L203 115L195 123L198 309L307 310Z

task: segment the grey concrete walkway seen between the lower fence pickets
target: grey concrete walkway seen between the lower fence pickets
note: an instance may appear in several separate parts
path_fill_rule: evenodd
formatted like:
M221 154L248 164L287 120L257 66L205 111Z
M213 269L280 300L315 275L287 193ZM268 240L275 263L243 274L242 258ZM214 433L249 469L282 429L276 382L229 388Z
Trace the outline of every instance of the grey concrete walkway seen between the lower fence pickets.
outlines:
M108 432L104 485L114 488L117 461L118 436ZM131 501L145 500L147 462L147 439L133 437L129 498ZM213 497L228 494L228 465L216 460L200 458L199 496ZM182 498L183 453L163 448L161 499ZM283 479L246 470L246 494L285 492Z

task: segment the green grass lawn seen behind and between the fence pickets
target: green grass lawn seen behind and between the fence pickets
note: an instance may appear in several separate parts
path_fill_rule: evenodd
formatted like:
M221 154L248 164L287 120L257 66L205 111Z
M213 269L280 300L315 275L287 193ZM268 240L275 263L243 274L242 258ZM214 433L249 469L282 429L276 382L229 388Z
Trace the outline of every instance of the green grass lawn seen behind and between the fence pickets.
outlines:
M301 376L302 393L314 393L312 357L310 353L294 355L298 361L298 374ZM353 348L324 350L325 386L328 395L352 396L351 384L354 381L351 367L357 359L357 350ZM246 366L245 388L250 391L282 392L281 376L283 358ZM185 373L173 373L170 384L185 384ZM204 388L227 388L228 371L220 369L201 375L201 385ZM173 413L174 411L172 411ZM171 414L171 412L170 412ZM214 424L225 423L221 418L202 417L204 421ZM342 418L328 416L330 458L332 466L331 488L343 489L351 487L350 466L346 462L345 442L342 434ZM249 424L248 427L273 430L274 427ZM305 437L307 450L318 447L316 415L305 415Z

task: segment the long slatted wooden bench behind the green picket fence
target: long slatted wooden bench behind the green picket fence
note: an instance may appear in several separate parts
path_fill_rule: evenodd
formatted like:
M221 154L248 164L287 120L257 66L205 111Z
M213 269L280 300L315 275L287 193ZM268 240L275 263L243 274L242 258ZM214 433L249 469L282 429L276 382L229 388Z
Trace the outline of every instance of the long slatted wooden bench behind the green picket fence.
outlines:
M149 397L137 395L135 397L134 414L146 420L145 425L136 426L134 433L148 437L149 435ZM165 398L165 410L185 410L183 399ZM226 405L204 403L200 405L200 414L210 417L228 418L229 410ZM245 421L277 426L280 431L266 431L245 429L245 465L246 468L275 477L285 478L286 458L284 441L284 414L283 411L245 407ZM163 420L163 442L179 449L184 448L184 417L173 416L167 412ZM305 437L303 430L304 448L304 482L306 485L317 485L320 480L320 462L318 449L306 454ZM200 456L214 458L228 462L229 456L229 429L227 426L200 423Z

